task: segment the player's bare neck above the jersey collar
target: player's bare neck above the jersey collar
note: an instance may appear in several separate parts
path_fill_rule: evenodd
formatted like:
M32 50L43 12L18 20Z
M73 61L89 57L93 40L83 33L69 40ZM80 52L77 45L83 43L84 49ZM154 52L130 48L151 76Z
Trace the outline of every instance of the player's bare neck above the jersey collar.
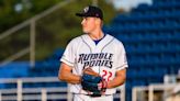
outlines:
M104 36L104 33L102 32L102 30L97 30L97 31L90 33L89 36L94 41L101 40Z

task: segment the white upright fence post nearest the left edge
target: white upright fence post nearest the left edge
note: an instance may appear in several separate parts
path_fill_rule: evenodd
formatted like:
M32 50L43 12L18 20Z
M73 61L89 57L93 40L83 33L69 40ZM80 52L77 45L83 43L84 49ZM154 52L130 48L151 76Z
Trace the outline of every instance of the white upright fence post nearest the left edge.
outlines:
M22 79L18 79L18 98L16 101L22 101Z

